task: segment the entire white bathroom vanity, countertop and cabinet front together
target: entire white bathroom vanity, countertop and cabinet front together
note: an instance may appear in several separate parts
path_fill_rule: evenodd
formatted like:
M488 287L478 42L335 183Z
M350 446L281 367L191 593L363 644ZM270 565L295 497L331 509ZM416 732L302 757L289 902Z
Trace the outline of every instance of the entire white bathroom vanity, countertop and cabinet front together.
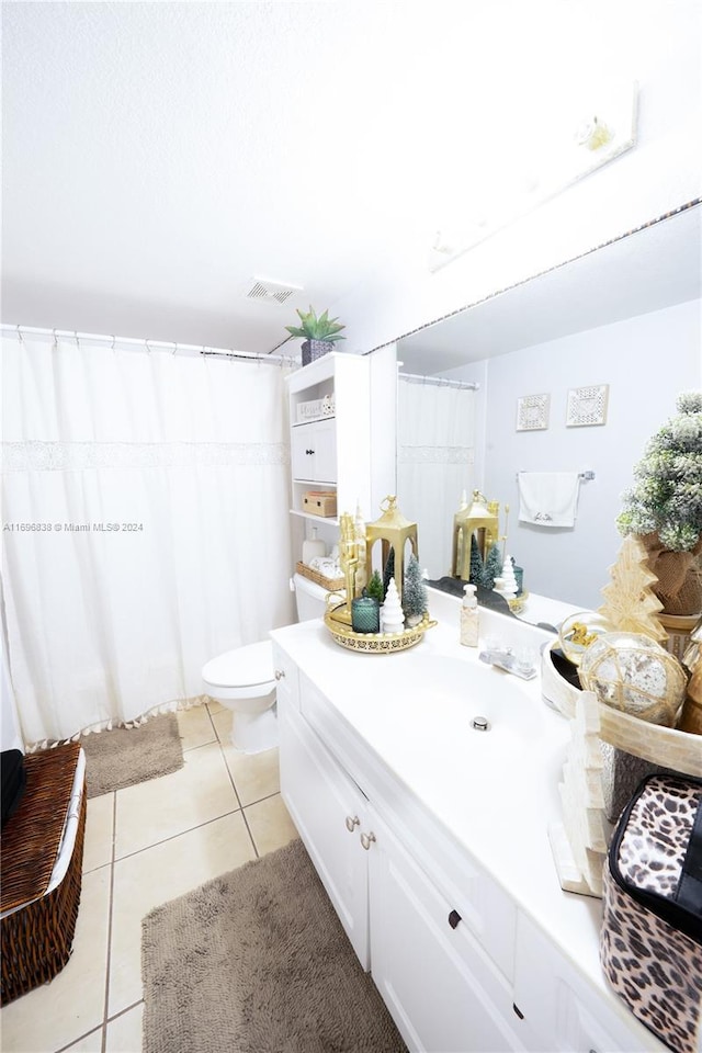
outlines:
M424 658L439 670L457 660L455 621L432 632ZM568 727L539 687L519 700L533 707L533 731L520 725L531 761L492 779L522 756L501 752L505 724L498 748L497 699L495 738L468 740L455 687L423 705L426 661L412 650L352 655L315 621L273 642L283 799L409 1049L665 1053L602 974L598 902L558 885L547 823ZM484 670L464 650L468 683L473 665ZM485 676L474 682L487 699Z

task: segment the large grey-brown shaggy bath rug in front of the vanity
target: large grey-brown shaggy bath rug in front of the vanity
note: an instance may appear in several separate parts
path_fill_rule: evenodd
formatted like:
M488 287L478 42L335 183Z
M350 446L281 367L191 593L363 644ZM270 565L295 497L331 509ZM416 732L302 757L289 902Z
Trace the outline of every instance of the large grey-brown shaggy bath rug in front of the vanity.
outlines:
M302 841L141 922L144 1053L406 1053Z

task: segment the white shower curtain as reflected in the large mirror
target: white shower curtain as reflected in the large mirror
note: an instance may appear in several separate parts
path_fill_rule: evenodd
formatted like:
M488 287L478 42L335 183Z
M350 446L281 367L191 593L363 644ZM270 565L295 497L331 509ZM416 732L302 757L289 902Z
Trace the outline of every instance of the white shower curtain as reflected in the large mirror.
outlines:
M475 392L401 374L398 380L398 505L420 524L422 569L439 578L450 574L453 512L463 491L469 499L473 489Z

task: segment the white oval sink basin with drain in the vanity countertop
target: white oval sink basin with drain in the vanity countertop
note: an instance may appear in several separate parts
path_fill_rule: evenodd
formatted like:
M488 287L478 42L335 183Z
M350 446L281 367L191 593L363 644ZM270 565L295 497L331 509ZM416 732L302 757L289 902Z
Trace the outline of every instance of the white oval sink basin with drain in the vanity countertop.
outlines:
M492 804L517 784L526 792L535 747L557 718L541 701L536 681L522 687L523 680L475 660L411 650L372 659L364 671L369 680L354 684L350 721L422 800L441 809L453 802L461 813L477 794L488 822ZM478 717L487 720L488 731L474 727Z

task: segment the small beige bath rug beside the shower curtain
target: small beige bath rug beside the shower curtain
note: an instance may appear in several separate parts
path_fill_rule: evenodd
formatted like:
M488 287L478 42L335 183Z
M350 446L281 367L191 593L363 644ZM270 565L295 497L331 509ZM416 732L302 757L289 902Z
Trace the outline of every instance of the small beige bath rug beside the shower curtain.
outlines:
M86 750L89 797L158 779L183 767L174 713L154 716L138 727L86 735L80 745Z

